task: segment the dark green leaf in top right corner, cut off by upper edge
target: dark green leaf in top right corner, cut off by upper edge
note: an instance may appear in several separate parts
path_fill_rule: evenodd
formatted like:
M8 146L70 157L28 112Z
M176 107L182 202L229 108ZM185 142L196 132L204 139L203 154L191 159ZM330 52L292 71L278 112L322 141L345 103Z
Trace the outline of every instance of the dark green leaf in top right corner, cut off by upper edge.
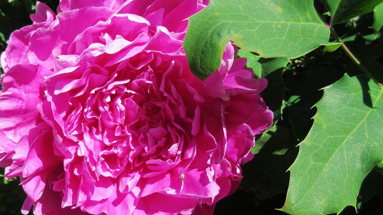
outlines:
M331 13L330 25L368 13L383 0L322 0Z

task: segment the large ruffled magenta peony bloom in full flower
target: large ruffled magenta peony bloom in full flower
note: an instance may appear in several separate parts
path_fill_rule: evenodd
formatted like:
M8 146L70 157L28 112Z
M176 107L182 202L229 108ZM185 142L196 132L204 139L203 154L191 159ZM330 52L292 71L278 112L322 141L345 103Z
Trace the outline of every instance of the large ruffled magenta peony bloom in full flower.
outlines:
M226 45L205 81L182 48L208 0L37 4L1 56L0 166L36 215L212 214L272 123Z

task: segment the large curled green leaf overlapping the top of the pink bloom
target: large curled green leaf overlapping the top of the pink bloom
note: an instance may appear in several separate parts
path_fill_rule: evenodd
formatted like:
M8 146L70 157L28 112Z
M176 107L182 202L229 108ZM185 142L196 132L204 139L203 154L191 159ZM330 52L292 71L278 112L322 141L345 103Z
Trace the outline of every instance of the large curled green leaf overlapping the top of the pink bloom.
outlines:
M312 0L211 0L189 18L184 47L191 71L204 79L221 64L229 41L260 57L293 59L328 39Z

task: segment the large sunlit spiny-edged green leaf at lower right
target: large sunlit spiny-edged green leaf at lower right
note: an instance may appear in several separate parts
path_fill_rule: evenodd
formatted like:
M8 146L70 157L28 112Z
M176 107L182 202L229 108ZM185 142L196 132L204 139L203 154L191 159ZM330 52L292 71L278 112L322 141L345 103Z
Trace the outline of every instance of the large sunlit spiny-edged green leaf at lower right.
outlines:
M383 160L383 89L345 75L324 88L281 210L295 215L338 213L357 202L363 179Z

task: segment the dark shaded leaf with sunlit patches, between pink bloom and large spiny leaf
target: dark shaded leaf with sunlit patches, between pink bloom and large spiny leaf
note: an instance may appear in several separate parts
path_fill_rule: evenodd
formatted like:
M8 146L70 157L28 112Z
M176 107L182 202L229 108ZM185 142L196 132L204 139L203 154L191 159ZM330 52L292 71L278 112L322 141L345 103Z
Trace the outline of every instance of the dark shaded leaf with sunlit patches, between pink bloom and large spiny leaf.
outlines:
M241 189L255 193L257 202L286 193L289 182L286 170L296 158L297 144L291 129L271 127L251 149L254 158L242 166Z

